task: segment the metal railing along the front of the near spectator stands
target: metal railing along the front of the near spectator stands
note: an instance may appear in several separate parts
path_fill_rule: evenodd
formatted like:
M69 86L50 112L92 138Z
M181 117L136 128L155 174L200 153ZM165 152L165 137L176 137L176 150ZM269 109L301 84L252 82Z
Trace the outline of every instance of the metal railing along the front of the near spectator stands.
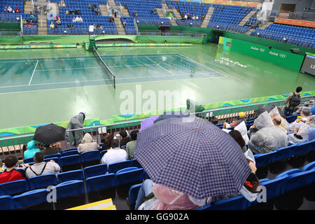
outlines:
M279 109L283 110L285 106L285 100L274 100L268 102L262 102L257 104L248 104L241 106L225 106L217 109L209 109L207 111L202 111L199 113L190 113L191 115L204 118L209 120L211 123L216 125L223 124L224 122L232 122L235 120L239 114L239 112L245 113L245 118L256 118L255 110L260 106L265 105L274 105L278 106ZM302 97L301 106L315 106L315 96L305 96ZM122 123L115 123L113 125L94 125L92 127L83 127L75 130L66 130L66 132L88 132L93 137L94 141L97 141L98 144L101 143L102 139L104 139L104 135L113 133L118 139L120 139L119 132L121 130L127 130L131 132L132 130L140 130L141 121L145 120L135 120L135 121L127 121ZM3 159L6 155L15 155L18 158L23 158L22 148L23 145L27 145L27 142L31 141L34 137L34 134L24 134L22 136L13 136L13 137L5 137L0 139L0 158ZM75 146L70 146L66 143L66 141L62 141L62 148L72 148Z

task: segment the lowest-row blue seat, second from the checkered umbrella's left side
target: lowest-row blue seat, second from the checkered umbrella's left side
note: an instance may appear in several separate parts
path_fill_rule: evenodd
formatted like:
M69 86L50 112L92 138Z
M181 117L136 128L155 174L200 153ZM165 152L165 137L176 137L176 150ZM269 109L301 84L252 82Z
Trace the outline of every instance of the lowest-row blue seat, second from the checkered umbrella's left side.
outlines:
M87 192L115 187L115 174L92 176L85 179Z

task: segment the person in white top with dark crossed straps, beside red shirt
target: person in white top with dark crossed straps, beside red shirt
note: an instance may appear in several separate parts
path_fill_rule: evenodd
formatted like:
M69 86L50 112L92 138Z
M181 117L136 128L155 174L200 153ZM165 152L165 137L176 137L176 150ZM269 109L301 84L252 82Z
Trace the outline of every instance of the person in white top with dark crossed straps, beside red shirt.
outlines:
M32 176L40 176L43 174L58 174L60 172L60 167L53 160L50 162L43 162L43 153L36 153L34 155L34 165L28 167L25 171L27 179Z

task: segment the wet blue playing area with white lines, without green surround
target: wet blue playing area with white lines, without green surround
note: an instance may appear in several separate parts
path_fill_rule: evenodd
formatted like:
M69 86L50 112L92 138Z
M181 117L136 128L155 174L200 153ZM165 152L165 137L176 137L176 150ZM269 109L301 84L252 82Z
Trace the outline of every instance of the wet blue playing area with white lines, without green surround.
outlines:
M102 59L116 76L116 84L224 77L180 54L106 55ZM6 71L13 64L16 70ZM94 57L3 59L0 71L6 74L0 76L0 93L111 85Z

